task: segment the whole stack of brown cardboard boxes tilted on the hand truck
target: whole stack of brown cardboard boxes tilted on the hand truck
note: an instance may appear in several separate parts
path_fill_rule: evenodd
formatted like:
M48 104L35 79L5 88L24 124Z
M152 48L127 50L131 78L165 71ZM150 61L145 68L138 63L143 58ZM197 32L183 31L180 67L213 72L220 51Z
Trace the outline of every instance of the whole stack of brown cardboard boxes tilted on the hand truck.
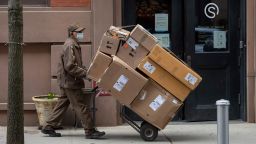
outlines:
M159 129L175 116L202 80L140 25L131 32L111 26L87 75Z

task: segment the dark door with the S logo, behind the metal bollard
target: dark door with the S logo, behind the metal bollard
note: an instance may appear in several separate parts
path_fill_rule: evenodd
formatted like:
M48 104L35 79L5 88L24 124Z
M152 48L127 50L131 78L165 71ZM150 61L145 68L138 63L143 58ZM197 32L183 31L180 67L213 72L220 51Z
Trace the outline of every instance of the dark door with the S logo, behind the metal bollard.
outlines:
M237 0L186 0L185 50L188 64L203 81L185 103L185 118L215 120L215 101L230 100L230 118L238 119L239 3Z

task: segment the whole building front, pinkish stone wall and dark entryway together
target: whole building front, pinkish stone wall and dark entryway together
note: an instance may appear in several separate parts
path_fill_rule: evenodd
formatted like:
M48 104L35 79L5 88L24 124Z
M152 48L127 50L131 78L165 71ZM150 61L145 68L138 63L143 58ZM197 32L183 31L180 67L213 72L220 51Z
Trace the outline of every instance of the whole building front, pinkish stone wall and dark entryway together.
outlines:
M7 0L0 5L0 124L5 125ZM32 96L58 93L56 58L73 22L86 27L82 51L87 67L110 25L139 23L199 72L203 82L175 120L216 120L215 101L224 98L231 102L231 119L256 122L255 6L254 0L24 0L25 125L38 123ZM96 105L98 125L121 122L113 97L100 96ZM64 123L75 121L70 109Z

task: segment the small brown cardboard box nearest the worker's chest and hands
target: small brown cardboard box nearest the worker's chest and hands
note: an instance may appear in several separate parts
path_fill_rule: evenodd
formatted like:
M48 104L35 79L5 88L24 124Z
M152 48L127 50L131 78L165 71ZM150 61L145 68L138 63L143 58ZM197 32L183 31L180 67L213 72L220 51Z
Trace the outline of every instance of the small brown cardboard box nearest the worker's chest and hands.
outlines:
M87 71L87 77L98 81L105 70L109 67L110 63L112 62L112 57L97 51L88 71Z

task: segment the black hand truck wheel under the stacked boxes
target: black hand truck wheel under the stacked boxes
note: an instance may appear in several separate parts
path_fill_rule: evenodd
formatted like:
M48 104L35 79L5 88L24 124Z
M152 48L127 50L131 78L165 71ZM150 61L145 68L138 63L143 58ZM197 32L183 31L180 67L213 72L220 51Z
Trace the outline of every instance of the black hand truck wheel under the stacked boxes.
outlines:
M154 141L158 136L158 128L153 125L142 122L140 127L140 137L145 141Z

